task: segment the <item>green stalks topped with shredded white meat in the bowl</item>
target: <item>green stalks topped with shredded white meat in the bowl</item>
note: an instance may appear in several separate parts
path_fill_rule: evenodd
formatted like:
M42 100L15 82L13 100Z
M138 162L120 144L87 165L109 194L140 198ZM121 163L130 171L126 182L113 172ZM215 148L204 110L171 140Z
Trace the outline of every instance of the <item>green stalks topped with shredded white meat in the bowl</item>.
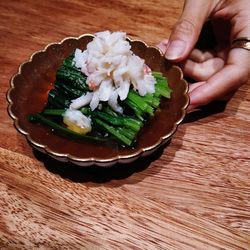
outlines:
M72 139L134 147L161 99L170 96L167 79L132 52L126 33L104 31L64 60L46 107L29 120Z

